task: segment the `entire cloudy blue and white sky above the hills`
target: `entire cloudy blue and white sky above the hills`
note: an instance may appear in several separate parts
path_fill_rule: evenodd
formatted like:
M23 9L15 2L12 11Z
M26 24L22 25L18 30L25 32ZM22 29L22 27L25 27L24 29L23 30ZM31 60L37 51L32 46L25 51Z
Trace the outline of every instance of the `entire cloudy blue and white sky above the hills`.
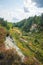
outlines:
M43 13L43 0L0 0L0 17L17 22Z

